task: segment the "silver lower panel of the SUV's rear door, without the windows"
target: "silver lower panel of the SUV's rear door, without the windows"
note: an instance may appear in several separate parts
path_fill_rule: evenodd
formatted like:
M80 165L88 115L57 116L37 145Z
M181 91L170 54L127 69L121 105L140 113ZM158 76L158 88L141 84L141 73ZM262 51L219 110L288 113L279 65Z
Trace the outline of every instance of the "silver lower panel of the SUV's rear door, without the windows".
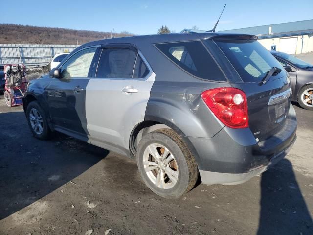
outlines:
M144 121L155 77L152 72L145 80L90 79L86 88L88 142L129 149L133 128Z

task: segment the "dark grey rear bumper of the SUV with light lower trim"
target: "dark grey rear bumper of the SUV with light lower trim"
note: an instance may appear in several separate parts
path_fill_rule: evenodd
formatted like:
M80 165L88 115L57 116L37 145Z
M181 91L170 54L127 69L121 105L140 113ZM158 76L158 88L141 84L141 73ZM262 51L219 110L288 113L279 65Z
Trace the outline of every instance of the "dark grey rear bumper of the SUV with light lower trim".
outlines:
M204 184L239 184L284 158L296 140L297 121L291 106L282 129L257 143L249 128L224 127L212 138L187 138Z

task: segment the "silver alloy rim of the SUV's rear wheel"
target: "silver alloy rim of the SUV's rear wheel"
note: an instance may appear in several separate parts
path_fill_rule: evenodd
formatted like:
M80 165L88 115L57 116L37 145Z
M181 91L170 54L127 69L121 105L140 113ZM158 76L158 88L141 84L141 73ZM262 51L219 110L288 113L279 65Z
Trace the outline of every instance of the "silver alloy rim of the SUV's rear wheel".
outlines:
M173 188L179 177L177 161L168 148L162 144L148 145L143 154L144 170L158 188Z

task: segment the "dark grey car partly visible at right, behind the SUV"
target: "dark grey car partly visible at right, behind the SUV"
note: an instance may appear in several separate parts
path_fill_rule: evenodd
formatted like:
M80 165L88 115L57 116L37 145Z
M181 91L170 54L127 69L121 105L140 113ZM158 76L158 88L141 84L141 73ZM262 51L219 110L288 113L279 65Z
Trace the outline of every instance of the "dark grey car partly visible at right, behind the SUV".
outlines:
M298 102L304 109L313 110L313 65L284 52L271 53L289 73L291 100Z

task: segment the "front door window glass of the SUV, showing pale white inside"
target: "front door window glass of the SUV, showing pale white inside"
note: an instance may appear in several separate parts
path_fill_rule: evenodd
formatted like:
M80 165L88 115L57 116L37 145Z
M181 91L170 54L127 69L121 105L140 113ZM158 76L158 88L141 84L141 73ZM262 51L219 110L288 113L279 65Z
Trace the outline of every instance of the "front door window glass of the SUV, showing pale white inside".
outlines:
M70 57L61 67L61 78L88 77L96 50L96 47L84 49Z

